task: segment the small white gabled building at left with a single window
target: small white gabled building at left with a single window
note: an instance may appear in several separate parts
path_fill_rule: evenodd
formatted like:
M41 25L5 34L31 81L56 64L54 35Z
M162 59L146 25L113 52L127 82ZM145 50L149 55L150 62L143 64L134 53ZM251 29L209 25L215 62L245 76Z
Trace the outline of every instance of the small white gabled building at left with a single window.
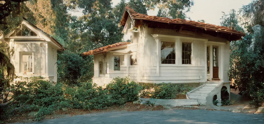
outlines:
M43 76L50 82L57 82L57 51L65 49L49 34L24 18L17 29L1 40L6 41L10 49L14 48L11 63L16 76Z

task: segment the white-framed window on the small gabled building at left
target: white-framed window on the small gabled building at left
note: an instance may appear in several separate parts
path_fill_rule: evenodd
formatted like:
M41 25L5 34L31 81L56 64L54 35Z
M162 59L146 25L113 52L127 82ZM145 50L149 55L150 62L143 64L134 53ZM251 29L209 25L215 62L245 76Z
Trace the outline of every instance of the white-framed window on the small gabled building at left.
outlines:
M21 72L33 72L33 54L32 53L22 53L21 54Z

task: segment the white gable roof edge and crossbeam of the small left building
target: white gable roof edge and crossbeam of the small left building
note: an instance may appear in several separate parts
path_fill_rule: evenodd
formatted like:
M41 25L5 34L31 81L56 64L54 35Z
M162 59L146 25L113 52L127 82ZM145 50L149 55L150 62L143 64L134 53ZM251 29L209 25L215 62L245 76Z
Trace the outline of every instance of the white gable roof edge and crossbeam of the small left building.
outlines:
M58 47L58 49L61 50L65 50L65 48L63 48L62 44L60 44L56 39L54 39L52 36L50 36L48 33L42 31L40 28L38 28L37 26L35 26L34 24L32 24L31 22L27 21L26 18L23 18L23 21L20 25L24 25L25 27L29 28L30 30L34 30L34 33L37 33L38 35L41 36L28 36L27 38L24 38L25 36L15 36L12 38L15 38L16 40L28 40L28 41L35 41L35 40L41 40L41 41L51 41L55 46ZM8 33L6 36L4 36L5 40L6 39L10 39L9 37L12 36L12 34L15 33L15 30L11 31L10 33ZM40 39L41 38L41 39Z

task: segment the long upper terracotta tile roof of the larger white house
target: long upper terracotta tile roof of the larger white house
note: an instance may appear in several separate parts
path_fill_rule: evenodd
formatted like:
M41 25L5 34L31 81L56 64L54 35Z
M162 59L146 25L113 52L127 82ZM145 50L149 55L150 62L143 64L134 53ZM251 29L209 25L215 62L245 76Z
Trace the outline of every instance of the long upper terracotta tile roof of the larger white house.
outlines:
M223 33L237 35L237 36L245 36L245 34L242 32L229 29L228 27L217 26L214 24L208 24L208 23L204 23L204 22L195 22L195 21L184 20L184 19L180 19L180 18L170 19L170 18L158 17L158 16L148 16L145 14L137 13L133 9L131 9L127 6L125 7L125 11L129 13L129 15L132 19L140 19L140 20L162 22L162 23L169 23L169 24L184 24L184 25L188 25L188 26L192 26L192 27L203 28L205 30L213 30L213 31L219 31L219 32L223 32ZM122 25L125 25L126 18L127 18L127 17L125 18L124 14L123 14L123 17L122 17L121 22L120 22Z

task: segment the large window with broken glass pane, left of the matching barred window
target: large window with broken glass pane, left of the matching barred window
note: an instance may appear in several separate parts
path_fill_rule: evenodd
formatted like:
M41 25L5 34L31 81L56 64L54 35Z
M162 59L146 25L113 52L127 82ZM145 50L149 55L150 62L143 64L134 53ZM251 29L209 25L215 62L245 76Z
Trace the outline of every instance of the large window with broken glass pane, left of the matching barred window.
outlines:
M161 42L161 64L175 64L175 42Z

